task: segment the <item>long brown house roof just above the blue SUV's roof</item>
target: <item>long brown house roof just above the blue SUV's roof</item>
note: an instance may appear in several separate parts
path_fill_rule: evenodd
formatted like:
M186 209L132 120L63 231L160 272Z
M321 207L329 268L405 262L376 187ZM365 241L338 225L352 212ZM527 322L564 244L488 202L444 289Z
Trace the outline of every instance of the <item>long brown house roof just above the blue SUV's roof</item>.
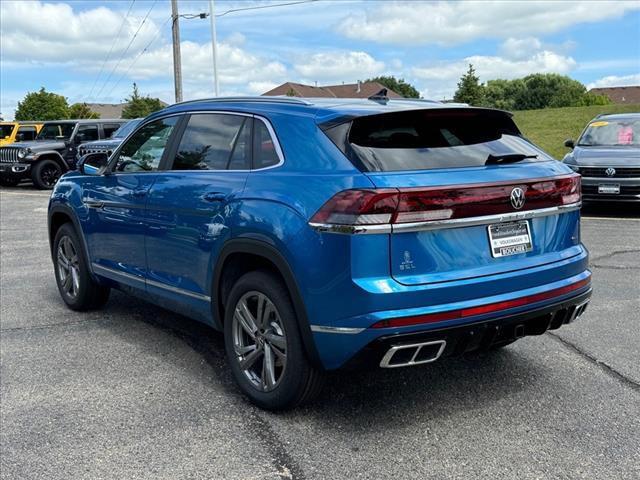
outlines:
M342 85L327 85L314 87L303 83L286 82L282 85L263 93L263 96L275 97L281 95L307 98L369 98L383 88L387 88L378 82L345 83ZM390 88L387 88L389 98L403 98Z

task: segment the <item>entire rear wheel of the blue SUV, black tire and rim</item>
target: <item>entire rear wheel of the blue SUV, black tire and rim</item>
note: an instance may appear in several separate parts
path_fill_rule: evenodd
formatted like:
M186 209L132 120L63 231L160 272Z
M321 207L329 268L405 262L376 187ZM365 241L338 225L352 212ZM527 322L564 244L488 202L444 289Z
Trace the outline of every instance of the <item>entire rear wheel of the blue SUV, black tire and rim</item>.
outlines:
M276 275L256 271L236 282L224 339L233 375L256 405L285 410L320 392L322 372L306 357L289 293Z

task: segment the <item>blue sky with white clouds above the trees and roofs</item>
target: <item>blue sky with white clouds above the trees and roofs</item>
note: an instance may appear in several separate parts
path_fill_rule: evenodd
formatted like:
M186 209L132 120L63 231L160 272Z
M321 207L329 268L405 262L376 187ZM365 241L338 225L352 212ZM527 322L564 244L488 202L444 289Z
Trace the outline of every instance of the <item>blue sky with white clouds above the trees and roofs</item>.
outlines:
M251 7L269 8L237 11ZM395 75L441 100L469 63L483 82L553 72L588 88L640 85L639 1L216 0L215 13L221 95ZM40 87L70 104L119 103L136 82L173 103L170 18L169 0L0 1L2 116ZM181 18L180 32L184 99L211 97L210 21Z

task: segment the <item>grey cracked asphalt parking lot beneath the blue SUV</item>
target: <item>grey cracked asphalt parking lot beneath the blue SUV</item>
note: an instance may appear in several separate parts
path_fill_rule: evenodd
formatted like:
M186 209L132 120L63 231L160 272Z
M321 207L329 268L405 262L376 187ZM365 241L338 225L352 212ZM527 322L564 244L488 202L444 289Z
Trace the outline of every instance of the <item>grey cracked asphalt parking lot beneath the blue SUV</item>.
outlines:
M640 208L583 212L595 293L578 322L335 374L276 415L240 395L219 334L119 293L66 309L47 200L0 190L3 479L640 478Z

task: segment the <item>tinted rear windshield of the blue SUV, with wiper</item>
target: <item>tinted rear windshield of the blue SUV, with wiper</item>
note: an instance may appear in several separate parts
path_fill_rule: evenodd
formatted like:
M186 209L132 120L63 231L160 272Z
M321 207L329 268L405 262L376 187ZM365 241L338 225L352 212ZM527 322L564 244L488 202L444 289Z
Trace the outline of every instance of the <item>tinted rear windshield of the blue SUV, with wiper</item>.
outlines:
M496 163L496 157L513 161L513 155L528 157L520 160L526 162L551 159L522 137L508 114L494 110L385 113L356 118L326 133L370 172L474 167Z

